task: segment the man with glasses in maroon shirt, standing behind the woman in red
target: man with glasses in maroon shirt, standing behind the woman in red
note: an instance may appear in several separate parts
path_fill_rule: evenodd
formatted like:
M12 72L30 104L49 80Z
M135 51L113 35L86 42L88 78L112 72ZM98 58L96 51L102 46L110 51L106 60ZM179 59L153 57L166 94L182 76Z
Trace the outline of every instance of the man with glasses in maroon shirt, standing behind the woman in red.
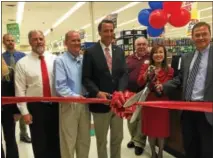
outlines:
M138 74L141 66L149 62L148 41L144 37L139 37L135 40L135 53L128 56L127 65L129 72L129 82L127 89L131 92L138 92L141 87L137 84ZM141 133L141 115L135 122L127 121L131 141L127 144L128 148L135 148L135 155L141 155L146 145L146 136Z

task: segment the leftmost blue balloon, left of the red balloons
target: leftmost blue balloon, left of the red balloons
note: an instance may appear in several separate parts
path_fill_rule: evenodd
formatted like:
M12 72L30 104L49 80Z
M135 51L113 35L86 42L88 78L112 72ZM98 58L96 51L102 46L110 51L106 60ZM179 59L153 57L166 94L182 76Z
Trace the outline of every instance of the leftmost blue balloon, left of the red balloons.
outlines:
M149 15L151 14L151 9L143 9L138 14L138 22L141 25L149 26Z

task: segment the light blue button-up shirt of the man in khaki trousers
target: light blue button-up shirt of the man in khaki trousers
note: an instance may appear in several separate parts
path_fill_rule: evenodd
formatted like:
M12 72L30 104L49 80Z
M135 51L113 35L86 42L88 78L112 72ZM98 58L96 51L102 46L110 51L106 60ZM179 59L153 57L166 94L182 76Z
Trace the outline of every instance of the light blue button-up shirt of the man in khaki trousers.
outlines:
M54 83L58 96L82 95L82 60L83 55L74 57L69 52L65 52L56 58L54 62Z

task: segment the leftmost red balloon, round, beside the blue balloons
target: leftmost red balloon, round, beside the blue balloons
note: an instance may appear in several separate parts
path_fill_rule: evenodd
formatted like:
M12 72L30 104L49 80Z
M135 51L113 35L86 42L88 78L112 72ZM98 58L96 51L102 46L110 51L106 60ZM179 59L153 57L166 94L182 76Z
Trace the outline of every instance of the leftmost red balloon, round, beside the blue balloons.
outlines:
M162 9L154 10L149 16L149 24L155 29L164 27L167 21L167 14Z

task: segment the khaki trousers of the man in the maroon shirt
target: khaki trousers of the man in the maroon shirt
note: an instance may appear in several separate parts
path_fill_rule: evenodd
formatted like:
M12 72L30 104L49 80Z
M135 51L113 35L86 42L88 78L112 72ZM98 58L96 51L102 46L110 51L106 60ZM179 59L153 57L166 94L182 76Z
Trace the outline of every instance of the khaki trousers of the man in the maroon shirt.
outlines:
M144 148L146 146L146 136L141 130L141 113L133 123L130 123L128 120L127 125L131 135L131 141L134 142L135 146Z

